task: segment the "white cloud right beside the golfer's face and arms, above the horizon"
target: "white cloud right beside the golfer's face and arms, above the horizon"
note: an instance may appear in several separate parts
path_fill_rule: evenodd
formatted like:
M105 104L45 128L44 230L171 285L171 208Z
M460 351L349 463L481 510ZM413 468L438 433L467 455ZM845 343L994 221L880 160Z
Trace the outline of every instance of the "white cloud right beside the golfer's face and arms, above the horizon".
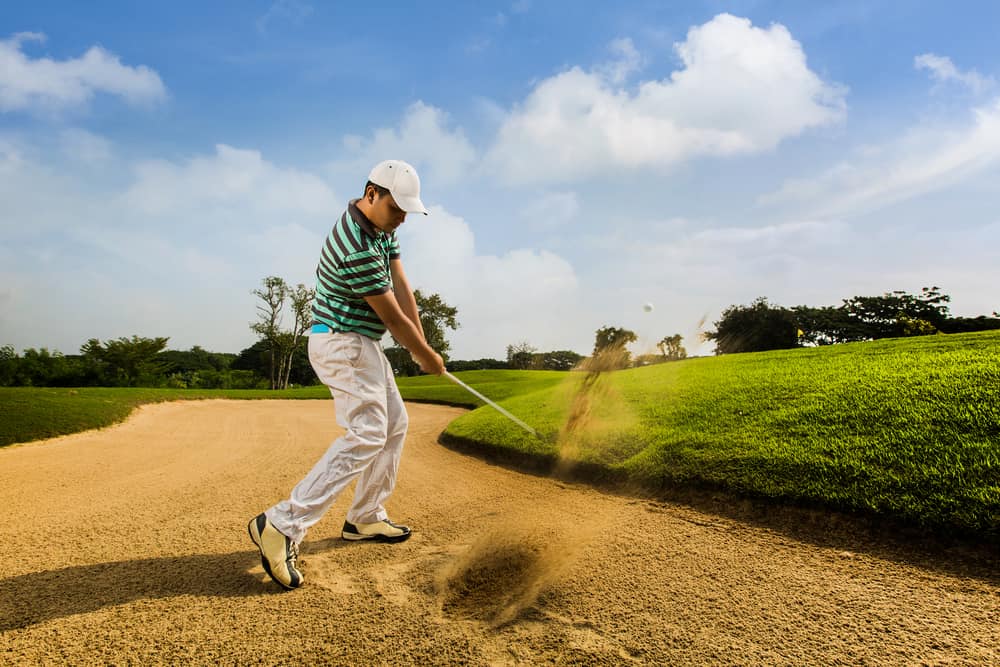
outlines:
M539 349L565 349L567 331L584 330L574 325L586 316L577 276L562 257L527 248L479 254L468 223L439 206L407 219L399 234L413 286L458 308L453 358L502 358L526 338Z

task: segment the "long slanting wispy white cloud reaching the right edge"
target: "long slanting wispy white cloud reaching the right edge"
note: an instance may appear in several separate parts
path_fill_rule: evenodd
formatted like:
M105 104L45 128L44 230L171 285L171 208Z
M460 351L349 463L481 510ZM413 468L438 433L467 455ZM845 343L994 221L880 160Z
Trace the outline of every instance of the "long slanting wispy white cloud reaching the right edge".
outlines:
M812 215L846 216L955 185L1000 164L1000 98L960 128L918 127L818 176L791 179L759 203L796 204Z

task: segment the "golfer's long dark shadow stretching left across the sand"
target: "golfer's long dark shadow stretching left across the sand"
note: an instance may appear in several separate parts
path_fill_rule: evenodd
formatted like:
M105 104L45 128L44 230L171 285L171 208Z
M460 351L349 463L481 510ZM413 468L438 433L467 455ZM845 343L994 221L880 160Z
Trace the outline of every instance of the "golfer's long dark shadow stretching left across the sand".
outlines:
M198 595L243 597L279 593L250 570L253 551L196 554L77 565L0 581L0 632L134 602Z

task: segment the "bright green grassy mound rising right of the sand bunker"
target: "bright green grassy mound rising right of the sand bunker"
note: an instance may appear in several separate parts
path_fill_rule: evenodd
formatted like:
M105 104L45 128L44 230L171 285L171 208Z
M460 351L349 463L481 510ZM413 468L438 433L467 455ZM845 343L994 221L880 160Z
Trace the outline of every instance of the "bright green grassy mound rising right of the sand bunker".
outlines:
M488 409L446 437L653 488L739 494L1000 536L1000 333L740 354L605 374L553 442L583 375ZM585 406L586 407L586 406ZM586 411L585 411L586 412Z

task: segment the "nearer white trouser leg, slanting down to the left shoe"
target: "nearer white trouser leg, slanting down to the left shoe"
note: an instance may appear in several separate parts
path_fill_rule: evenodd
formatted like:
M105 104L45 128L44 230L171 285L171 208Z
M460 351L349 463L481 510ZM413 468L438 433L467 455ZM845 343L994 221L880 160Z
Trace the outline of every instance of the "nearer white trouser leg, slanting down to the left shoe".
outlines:
M266 511L274 527L296 543L385 447L389 414L382 359L379 344L361 334L309 337L309 361L330 388L337 423L347 432L330 445L287 500Z

